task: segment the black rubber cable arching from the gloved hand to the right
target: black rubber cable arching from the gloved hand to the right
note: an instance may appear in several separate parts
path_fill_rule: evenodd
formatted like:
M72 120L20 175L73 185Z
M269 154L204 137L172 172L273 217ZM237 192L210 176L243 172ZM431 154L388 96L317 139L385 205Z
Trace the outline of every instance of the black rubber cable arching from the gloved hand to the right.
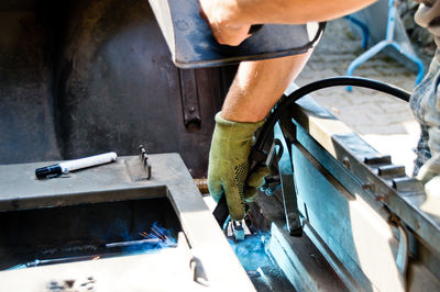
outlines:
M338 86L370 88L384 93L388 93L404 101L409 101L409 97L411 96L408 91L404 89L377 80L362 78L362 77L333 77L311 82L292 92L276 106L274 112L270 114L255 142L254 151L262 153L263 147L267 141L267 137L271 134L272 130L274 128L276 122L279 120L284 111L287 110L297 100L314 91Z

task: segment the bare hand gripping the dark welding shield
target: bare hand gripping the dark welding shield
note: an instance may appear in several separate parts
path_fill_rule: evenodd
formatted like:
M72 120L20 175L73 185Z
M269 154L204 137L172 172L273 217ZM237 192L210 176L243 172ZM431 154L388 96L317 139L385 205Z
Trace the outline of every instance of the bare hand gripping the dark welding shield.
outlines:
M200 16L207 21L220 44L238 46L251 36L251 25L241 20L234 1L199 0L199 4Z

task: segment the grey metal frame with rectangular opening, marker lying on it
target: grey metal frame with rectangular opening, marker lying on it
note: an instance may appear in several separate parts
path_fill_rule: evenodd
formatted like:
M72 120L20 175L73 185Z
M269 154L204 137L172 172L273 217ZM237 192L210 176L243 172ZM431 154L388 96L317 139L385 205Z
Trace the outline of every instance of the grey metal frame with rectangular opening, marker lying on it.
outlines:
M67 281L73 287L84 284L81 289L90 287L92 291L253 291L252 282L180 157L177 154L151 155L148 160L152 165L150 180L143 179L144 169L139 157L119 157L114 164L48 180L36 180L34 177L35 168L47 162L0 166L0 215L4 215L1 218L8 218L8 213L12 212L51 212L59 207L133 200L135 206L136 200L166 198L182 225L176 248L154 254L3 270L0 272L0 290L52 291ZM80 220L79 212L70 218L73 222ZM108 224L112 224L113 220L110 216L108 221ZM3 229L8 223L0 223ZM26 228L21 223L15 227ZM30 243L32 235L38 232L45 231L28 231ZM9 243L3 236L0 239L2 255L8 251L4 248ZM14 235L12 233L9 236ZM191 262L196 263L191 267Z

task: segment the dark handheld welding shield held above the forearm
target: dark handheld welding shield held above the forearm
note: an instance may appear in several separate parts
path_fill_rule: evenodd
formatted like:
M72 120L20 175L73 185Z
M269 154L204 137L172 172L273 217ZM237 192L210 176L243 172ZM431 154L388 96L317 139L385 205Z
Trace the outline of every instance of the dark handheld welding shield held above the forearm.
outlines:
M197 68L234 64L240 60L266 59L301 54L318 41L307 25L265 24L240 46L220 45L199 16L197 0L148 0L173 61L180 68ZM169 15L170 14L170 15Z

